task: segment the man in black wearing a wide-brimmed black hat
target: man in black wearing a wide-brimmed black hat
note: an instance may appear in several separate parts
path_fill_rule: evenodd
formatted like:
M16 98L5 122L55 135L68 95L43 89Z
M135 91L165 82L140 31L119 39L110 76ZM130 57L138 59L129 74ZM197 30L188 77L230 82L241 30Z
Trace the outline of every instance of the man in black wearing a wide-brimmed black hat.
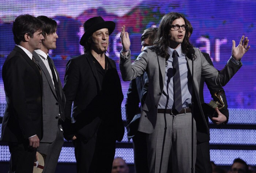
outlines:
M83 26L84 54L66 66L64 137L73 140L77 172L110 173L116 140L124 135L121 82L115 62L105 55L115 23L98 16Z

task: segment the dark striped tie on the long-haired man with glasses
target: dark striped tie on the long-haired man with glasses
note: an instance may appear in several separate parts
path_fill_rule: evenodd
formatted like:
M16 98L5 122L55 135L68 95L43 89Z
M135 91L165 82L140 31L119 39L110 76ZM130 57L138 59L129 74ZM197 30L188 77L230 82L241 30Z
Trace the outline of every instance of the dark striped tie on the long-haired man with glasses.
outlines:
M180 112L182 109L182 98L181 98L181 85L180 85L180 70L178 62L178 53L176 50L173 51L173 109Z

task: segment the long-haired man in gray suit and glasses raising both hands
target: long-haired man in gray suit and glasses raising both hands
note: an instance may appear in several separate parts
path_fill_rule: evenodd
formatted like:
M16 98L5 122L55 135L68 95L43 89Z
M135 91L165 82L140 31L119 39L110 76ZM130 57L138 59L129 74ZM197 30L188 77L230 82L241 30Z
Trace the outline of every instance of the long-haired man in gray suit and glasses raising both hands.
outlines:
M242 36L237 47L233 41L232 57L219 72L189 42L185 21L184 15L179 13L172 12L163 16L154 46L146 47L132 64L130 40L125 26L120 35L123 45L120 70L123 80L132 80L145 71L148 74L148 94L138 130L147 133L148 165L151 173L166 173L169 157L173 173L189 173L192 166L195 167L196 139L209 136L200 104L201 77L218 85L225 85L241 68L240 60L250 47L247 37L244 39Z

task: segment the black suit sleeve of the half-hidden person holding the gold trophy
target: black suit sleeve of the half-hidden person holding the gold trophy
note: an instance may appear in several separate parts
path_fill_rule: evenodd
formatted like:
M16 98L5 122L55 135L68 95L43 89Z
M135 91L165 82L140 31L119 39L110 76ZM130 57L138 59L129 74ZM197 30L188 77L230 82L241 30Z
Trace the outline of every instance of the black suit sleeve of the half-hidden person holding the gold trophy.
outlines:
M210 65L213 66L210 55L203 53L204 57L206 58L206 60L209 62ZM224 89L221 86L216 85L214 82L212 82L209 79L205 80L206 85L211 93L211 96L213 98L214 101L218 101L218 98L214 95L215 92L217 91L224 91ZM225 124L228 122L229 120L229 110L227 109L227 99L226 99L226 95L225 93L223 94L223 102L224 102L224 107L222 109L220 109L219 111L226 116L227 120L225 122ZM216 113L216 112L215 112ZM217 113L216 113L217 114Z

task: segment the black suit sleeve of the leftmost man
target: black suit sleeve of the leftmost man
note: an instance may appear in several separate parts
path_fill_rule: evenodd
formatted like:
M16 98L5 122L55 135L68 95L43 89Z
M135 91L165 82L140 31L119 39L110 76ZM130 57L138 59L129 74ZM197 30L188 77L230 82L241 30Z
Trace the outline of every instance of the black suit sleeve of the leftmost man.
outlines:
M33 112L29 111L26 103L25 77L26 66L22 61L23 58L12 57L5 66L6 81L5 90L7 90L14 114L18 121L19 127L25 139L36 135L34 122L32 120ZM39 135L39 134L38 134Z

